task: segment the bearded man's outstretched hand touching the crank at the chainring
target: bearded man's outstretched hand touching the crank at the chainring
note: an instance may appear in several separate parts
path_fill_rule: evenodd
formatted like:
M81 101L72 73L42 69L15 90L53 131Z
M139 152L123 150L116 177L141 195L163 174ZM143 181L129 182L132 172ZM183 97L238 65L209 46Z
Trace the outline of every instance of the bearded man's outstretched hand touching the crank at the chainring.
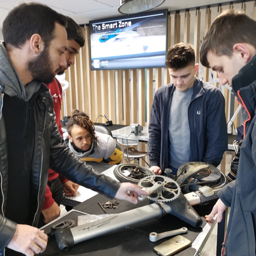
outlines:
M130 193L130 196L128 195L128 192ZM148 196L148 193L143 191L138 185L130 182L123 182L121 183L120 188L117 190L115 198L137 204L137 197L140 195Z

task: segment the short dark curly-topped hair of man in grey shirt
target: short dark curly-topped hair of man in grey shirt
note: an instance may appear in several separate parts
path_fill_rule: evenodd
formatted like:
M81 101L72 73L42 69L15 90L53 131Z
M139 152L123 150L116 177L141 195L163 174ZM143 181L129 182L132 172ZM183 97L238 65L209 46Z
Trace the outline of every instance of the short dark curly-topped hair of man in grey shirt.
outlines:
M196 64L195 48L192 44L174 44L166 54L167 68L180 69Z

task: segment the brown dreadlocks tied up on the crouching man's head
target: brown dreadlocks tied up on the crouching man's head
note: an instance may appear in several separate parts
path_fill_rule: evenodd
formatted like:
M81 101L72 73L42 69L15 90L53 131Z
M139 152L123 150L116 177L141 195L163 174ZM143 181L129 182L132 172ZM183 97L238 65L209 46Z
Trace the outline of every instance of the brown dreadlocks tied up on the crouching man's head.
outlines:
M94 125L87 114L77 109L74 109L71 113L71 116L68 118L68 123L66 125L67 132L70 136L71 136L72 127L74 125L83 127L88 132L90 132L92 139L95 140L95 147L97 146L97 137L95 134Z

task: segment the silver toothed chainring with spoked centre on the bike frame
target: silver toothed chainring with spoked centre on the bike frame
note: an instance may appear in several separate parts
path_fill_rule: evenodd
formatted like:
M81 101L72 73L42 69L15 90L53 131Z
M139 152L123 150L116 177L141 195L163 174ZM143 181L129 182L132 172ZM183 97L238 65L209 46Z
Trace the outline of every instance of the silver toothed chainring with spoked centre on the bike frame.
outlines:
M156 191L149 194L148 199L156 202L170 202L177 199L180 196L180 186L171 178L162 175L151 175L141 179L138 183L140 188L147 189L156 184L156 182L163 182L163 188L157 189Z

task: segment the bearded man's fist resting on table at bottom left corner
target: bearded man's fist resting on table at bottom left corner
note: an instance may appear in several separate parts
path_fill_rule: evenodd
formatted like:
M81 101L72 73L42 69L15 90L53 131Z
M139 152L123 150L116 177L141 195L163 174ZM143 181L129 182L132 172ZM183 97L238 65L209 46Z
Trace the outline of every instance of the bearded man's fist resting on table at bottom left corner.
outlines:
M44 252L48 236L44 231L28 225L17 224L16 231L7 248L21 252L26 256L34 256Z

